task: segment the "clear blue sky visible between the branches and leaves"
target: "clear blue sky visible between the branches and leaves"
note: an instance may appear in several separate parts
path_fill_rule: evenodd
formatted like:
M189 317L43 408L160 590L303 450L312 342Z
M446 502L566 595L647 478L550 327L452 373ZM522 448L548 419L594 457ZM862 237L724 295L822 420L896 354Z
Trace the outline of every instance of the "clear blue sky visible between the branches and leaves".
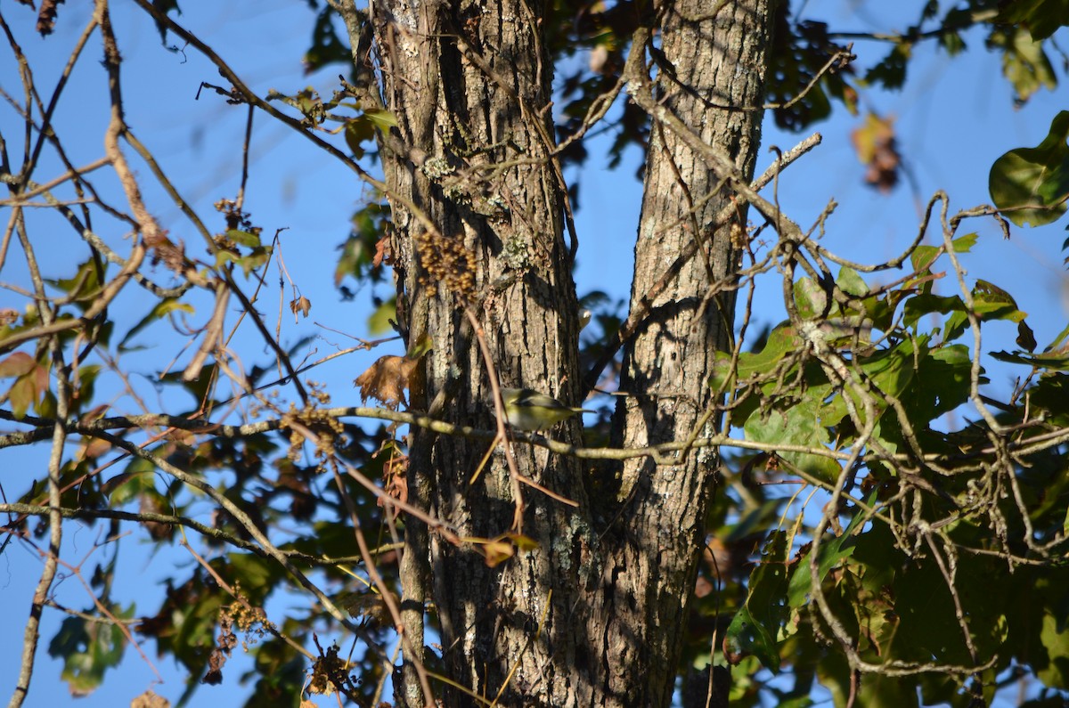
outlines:
M806 15L832 20L840 29L885 31L901 29L912 19L896 16L902 4L907 3L812 1L806 4ZM164 50L155 27L133 3L118 1L114 5L115 33L125 60L127 122L154 152L180 191L195 203L208 227L221 230L221 219L214 218L211 204L223 197L233 198L237 190L246 110L228 106L208 91L195 101L201 81L222 82L212 65L192 50L184 53ZM329 96L339 73L337 67L308 77L300 70L299 60L307 48L314 18L305 3L296 0L229 3L186 0L182 6L185 14L179 20L214 47L261 95L269 88L293 93L311 84ZM60 5L59 11L56 33L42 40L32 31L33 16L29 9L5 5L4 17L30 57L37 86L46 90L55 86L69 46L90 17L91 5L68 3ZM1063 91L1057 95L1040 92L1023 109L1014 109L1011 88L1001 78L1000 59L983 50L978 33L971 33L966 39L969 52L956 59L948 59L933 44L918 47L907 88L895 93L867 93L862 104L863 111L872 109L897 117L899 147L915 174L921 203L942 188L950 195L952 211L990 201L987 180L991 164L1007 150L1037 144L1047 135L1056 112L1067 107ZM170 41L173 42L173 37ZM57 130L71 149L76 165L88 164L103 155L102 139L107 122L103 103L106 76L96 61L100 50L95 39L87 51L56 119ZM877 43L855 45L863 70L886 51L886 45ZM6 48L3 53L10 57ZM21 93L14 62L6 58L0 60L0 87L10 95ZM814 126L812 130L823 134L823 144L784 174L779 199L786 213L806 227L834 198L839 206L828 221L825 245L848 258L878 262L897 253L909 243L916 232L919 213L915 196L907 185L899 186L890 195L881 195L862 183L864 166L857 161L850 143L850 130L861 119L836 106L831 121ZM347 233L348 218L370 193L352 172L303 137L273 124L262 114L255 120L246 211L264 227L265 234L280 228L289 229L282 235L281 252L300 293L312 301L312 311L308 320L295 324L286 309L280 323L281 337L284 343L314 335L312 358L319 358L353 342L316 323L353 336L367 336L366 321L370 312L367 295L370 293L365 290L358 293L355 302L341 302L332 286L332 273L338 256L335 249ZM10 106L0 109L0 128L9 151L17 159L21 151L21 127ZM758 171L772 160L766 151L769 145L786 150L805 135L808 132L802 135L780 133L768 121ZM602 139L590 147L591 157L580 178L582 210L576 215L576 226L582 247L575 278L580 295L599 289L614 298L625 299L641 197L641 185L633 175L640 156L632 151L617 171L608 172L604 169L606 159L603 157L606 144ZM37 171L38 181L63 171L47 149L46 155ZM190 255L201 256L200 237L155 186L148 168L138 165L136 169L150 209L165 228L172 229L171 237L183 238ZM567 176L571 180L578 174L573 169ZM115 194L112 181L103 171L98 179L106 194ZM118 196L113 198L117 203L123 203ZM0 217L9 213L0 207ZM36 247L45 255L46 272L52 276L67 276L72 266L86 258L83 250L71 247L74 236L67 230L69 227L50 214L34 213L28 218L31 234L41 238ZM94 226L122 252L124 230L118 224L102 218ZM990 220L977 220L961 231L976 230L981 236L976 251L964 258L970 278L983 278L1009 290L1020 308L1028 312L1028 322L1041 347L1066 324L1060 295L1060 244L1066 235L1063 229L1064 224L1036 230L1014 229L1008 242L1002 240ZM156 276L167 281L168 274L162 266L156 270ZM270 326L275 324L279 306L278 278L277 268L273 267L266 280L266 294L261 301ZM25 282L18 258L9 257L7 264L0 271L0 282ZM949 279L939 288L942 294L955 292L955 284ZM778 291L775 288L766 290L766 294L759 295L756 314L760 322L775 323L784 317L783 306L778 302ZM281 297L289 302L292 296L286 282ZM203 299L200 302L206 304ZM20 297L0 290L0 307L21 309L22 306ZM117 319L133 322L142 317L149 306L145 298L131 289L117 301L113 312ZM204 317L202 310L192 321L199 324ZM1013 347L1016 330L1009 325L993 325L986 334L992 338L986 342L987 350ZM248 345L254 341L239 338L235 345L241 350L243 343ZM149 349L127 355L124 366L144 374L135 385L152 406L160 399L150 379L174 357L184 366L183 356L187 357L188 352L182 354L186 342L177 339L155 341L148 337L141 343ZM247 365L263 363L267 356L259 343L241 351ZM340 357L316 369L312 376L325 382L334 391L335 403L353 404L358 397L352 380L383 353L386 352L379 349ZM389 353L400 353L400 347ZM1001 380L1000 370L993 371L994 384L1005 386L1009 374L1002 374ZM110 385L117 411L137 412L129 398L120 395L119 384L112 381ZM164 399L164 404L188 405L189 401L179 403ZM9 499L25 491L29 476L19 476L18 471L31 468L37 476L45 455L43 449L2 452L0 483ZM94 549L94 544L103 540L99 534L97 528L79 529L68 525L64 540L66 558L89 557L84 568L90 572L92 566L109 553L108 549ZM139 547L139 543L136 538L121 541L126 548L119 578L128 585L117 587L114 595L117 600L136 601L139 611L149 612L161 597L159 580L174 565L185 565L190 559L179 552L153 557L149 548ZM18 542L0 557L0 598L5 605L0 626L13 636L21 636L40 567L35 553ZM55 595L71 606L88 606L88 598L76 578L58 583ZM268 610L281 614L286 604L295 602L293 598L279 598ZM67 696L65 686L58 679L60 665L46 653L48 641L62 616L46 611L45 618L29 706L62 704ZM155 658L152 643L144 643L142 648L166 680L155 690L171 699L176 698L182 690L181 673L170 660ZM18 650L14 641L0 648L0 695L15 683ZM235 658L228 665L226 682L220 687L202 688L190 705L234 705L245 695L236 678L248 665ZM104 688L79 701L79 705L87 708L127 705L153 681L154 674L146 663L133 649L127 649L122 667L109 674Z

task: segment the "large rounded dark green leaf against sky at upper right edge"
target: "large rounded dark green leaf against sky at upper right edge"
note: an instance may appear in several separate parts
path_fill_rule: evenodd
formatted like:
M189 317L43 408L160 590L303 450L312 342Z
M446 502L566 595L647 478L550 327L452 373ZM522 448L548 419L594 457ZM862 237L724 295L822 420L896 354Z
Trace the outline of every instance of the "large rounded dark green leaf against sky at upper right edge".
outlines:
M1043 226L1065 214L1069 196L1067 138L1069 111L1062 111L1038 147L1011 150L991 166L991 199L1013 224Z

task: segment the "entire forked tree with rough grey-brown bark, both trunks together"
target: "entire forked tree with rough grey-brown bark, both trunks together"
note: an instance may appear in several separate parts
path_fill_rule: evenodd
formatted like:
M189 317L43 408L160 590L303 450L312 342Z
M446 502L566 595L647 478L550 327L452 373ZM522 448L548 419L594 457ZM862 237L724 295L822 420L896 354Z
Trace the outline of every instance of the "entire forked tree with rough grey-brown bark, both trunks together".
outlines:
M660 9L662 72L691 87L666 77L660 90L748 175L760 124L752 107L760 105L771 26L766 0L718 2L715 12L703 4ZM543 3L384 0L372 4L368 24L352 2L345 10L358 66L368 65L369 40L377 57L381 84L369 101L381 96L398 120L382 141L398 313L409 342L433 345L413 407L493 427L480 337L502 385L577 404L578 312L562 235L564 185L549 159L553 67L540 40ZM690 206L717 188L709 169L657 130L647 171L634 292L663 275L687 241L702 238L703 247L626 353L626 386L636 396L618 425L621 440L641 445L685 437L708 405L710 350L727 341L733 302L714 283L734 267L730 229L714 228L710 217L728 195ZM740 212L739 222L744 218ZM659 351L676 358L659 361ZM555 436L578 442L578 424ZM525 445L513 450L522 475L578 506L523 488L522 533L538 548L494 568L478 547L452 547L406 522L402 606L412 650L396 676L398 704L424 705L410 660L422 650L424 603L433 602L445 672L475 694L493 699L500 692L500 705L516 706L668 705L702 541L709 460L628 465L621 494L606 509L591 503L588 471L577 461ZM484 452L484 443L413 432L409 499L465 537L515 529L517 488L499 451L468 486ZM440 683L435 693L447 706L471 704Z

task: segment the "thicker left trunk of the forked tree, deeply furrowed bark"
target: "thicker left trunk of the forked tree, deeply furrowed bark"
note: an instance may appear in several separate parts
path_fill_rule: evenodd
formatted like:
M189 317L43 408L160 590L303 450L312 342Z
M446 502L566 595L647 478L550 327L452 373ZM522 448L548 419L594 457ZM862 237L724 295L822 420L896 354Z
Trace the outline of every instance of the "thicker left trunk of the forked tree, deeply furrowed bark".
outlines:
M399 315L410 342L425 336L433 344L413 406L494 427L478 337L502 385L576 402L577 304L562 188L548 159L552 66L539 51L541 9L513 0L394 1L375 12L385 104L403 143L385 150ZM563 434L578 443L578 430L572 421ZM502 705L568 705L577 682L572 647L588 644L572 636L566 618L580 587L579 539L589 529L572 507L529 488L515 528L517 487L502 456L468 486L486 447L415 431L414 501L462 537L522 530L539 549L492 568L480 553L485 547L456 548L409 520L402 569L408 640L421 646L415 615L433 599L450 679L490 699L503 691ZM587 506L575 460L523 445L513 451L520 474ZM422 705L413 679L408 668L399 702ZM471 703L443 684L436 693L445 705Z

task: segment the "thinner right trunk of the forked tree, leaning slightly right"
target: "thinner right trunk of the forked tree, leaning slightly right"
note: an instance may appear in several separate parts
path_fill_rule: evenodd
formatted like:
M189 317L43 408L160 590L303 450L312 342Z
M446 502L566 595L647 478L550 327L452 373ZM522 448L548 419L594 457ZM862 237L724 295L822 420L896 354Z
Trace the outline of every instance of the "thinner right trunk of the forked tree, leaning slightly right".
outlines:
M659 103L727 152L747 182L760 143L774 2L678 0L660 9ZM714 352L732 338L737 246L746 227L744 203L717 222L733 198L725 178L653 122L631 297L632 312L649 312L624 351L623 447L710 435L719 421L704 416L714 402L707 381ZM677 264L695 240L697 256ZM678 275L648 302L672 264ZM671 702L716 464L715 450L706 448L679 464L637 458L623 465L624 509L605 547L608 566L623 570L598 619L607 622L609 645L620 647L610 663L609 683L620 687L613 693L640 696L630 705ZM635 665L648 667L646 686L634 686Z

